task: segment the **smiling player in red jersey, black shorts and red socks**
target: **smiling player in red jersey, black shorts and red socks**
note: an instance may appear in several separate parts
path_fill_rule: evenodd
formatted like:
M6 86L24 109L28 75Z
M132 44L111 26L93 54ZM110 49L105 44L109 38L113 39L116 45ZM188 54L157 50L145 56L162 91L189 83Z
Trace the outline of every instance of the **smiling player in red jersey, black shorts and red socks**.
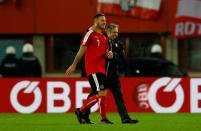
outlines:
M91 123L89 119L85 119L83 112L91 108L96 102L99 104L101 123L113 124L106 117L105 89L106 72L105 72L105 57L111 59L113 54L109 51L108 40L102 31L105 29L106 19L104 14L94 16L94 24L89 28L84 35L80 49L73 61L73 64L66 70L67 75L71 75L85 54L85 68L89 83L95 95L90 97L82 107L75 109L75 114L78 121L83 123Z

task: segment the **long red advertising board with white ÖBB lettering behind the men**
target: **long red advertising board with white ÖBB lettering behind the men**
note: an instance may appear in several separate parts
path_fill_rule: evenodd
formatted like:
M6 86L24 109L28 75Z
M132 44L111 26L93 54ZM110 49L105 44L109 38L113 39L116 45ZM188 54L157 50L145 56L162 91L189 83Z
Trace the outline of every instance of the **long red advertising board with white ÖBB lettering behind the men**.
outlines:
M90 92L85 78L2 78L0 83L0 113L73 112ZM201 78L121 78L121 85L128 112L201 112ZM97 104L92 111L98 111ZM110 92L107 111L117 112Z

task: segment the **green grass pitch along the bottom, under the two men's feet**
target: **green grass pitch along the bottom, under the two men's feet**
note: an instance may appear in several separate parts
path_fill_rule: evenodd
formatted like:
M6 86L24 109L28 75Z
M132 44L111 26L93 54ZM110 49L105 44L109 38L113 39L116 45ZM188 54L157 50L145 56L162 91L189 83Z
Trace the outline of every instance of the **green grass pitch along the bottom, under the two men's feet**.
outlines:
M138 124L121 124L117 113L108 113L113 125L100 124L98 113L90 118L96 124L79 124L73 113L0 114L0 131L195 131L201 130L201 114L130 113Z

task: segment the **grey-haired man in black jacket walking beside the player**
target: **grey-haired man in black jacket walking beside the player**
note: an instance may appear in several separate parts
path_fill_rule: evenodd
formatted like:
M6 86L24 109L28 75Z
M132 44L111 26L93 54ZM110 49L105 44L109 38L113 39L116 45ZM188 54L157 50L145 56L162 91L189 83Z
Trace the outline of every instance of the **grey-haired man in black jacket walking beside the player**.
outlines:
M115 103L118 109L118 112L121 117L122 123L137 123L138 120L132 120L127 112L124 100L123 100L123 94L121 91L121 83L119 80L119 74L121 69L123 68L124 63L124 48L123 43L117 39L118 36L118 25L115 24L109 24L106 27L106 35L109 40L109 46L110 50L113 52L113 58L111 60L108 60L106 62L106 76L107 76L107 84L106 88L109 89L115 99ZM93 93L90 93L88 98L92 96ZM85 118L88 123L90 122L89 119L89 113L90 110L85 112Z

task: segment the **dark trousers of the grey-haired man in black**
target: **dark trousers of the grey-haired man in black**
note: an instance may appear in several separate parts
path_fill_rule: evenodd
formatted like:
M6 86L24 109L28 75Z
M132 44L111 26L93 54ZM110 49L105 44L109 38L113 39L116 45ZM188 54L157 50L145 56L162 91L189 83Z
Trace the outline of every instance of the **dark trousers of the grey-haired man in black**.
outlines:
M109 89L114 97L121 120L123 121L124 119L130 119L124 103L120 80L107 80L106 89ZM94 93L91 92L87 98L90 98L93 95ZM90 109L88 109L85 113L87 116L89 116Z

